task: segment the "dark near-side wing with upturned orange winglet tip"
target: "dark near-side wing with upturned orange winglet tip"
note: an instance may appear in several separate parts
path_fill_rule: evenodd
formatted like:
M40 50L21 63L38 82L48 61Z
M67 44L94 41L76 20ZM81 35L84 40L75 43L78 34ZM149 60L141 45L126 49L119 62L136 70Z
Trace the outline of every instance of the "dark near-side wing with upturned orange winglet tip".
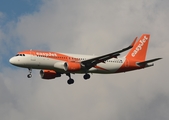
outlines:
M132 42L132 44L130 46L128 46L128 47L126 47L122 50L119 50L119 51L116 51L116 52L113 52L113 53L109 53L109 54L106 54L106 55L98 56L98 57L95 57L95 58L91 58L91 59L88 59L88 60L84 60L81 63L85 68L90 69L90 68L96 66L98 63L105 62L106 60L111 59L111 58L117 58L117 56L119 56L120 53L131 49L134 46L136 40L137 40L137 37L135 38L135 40Z

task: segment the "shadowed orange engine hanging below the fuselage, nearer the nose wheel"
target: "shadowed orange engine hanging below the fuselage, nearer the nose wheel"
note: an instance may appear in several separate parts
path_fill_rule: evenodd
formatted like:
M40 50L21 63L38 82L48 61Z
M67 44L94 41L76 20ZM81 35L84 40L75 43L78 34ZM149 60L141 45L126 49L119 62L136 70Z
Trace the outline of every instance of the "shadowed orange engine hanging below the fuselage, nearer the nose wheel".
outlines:
M40 75L42 79L54 79L56 77L61 77L61 74L56 73L54 70L41 70Z

